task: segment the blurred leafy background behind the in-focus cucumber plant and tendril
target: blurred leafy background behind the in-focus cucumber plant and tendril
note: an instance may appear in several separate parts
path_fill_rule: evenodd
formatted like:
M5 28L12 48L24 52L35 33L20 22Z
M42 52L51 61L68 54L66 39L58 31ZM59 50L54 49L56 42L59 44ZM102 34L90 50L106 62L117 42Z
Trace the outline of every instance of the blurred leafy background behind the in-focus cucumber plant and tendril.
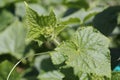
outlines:
M42 46L26 42L24 1L41 15L53 9L58 21L68 21L69 28L60 33L60 41L68 40L79 26L98 29L110 39L111 69L120 70L120 0L0 0L0 80L6 80L24 56L55 48L52 42ZM48 55L31 56L17 66L10 80L38 80L40 73L52 69Z

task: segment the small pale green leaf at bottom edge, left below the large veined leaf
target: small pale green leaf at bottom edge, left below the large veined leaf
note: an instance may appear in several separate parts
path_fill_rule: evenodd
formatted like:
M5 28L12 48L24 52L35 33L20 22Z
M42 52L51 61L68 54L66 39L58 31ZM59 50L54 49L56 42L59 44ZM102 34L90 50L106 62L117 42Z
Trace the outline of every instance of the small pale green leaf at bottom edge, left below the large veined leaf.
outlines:
M39 80L63 80L64 75L59 71L49 71L45 74L39 75Z

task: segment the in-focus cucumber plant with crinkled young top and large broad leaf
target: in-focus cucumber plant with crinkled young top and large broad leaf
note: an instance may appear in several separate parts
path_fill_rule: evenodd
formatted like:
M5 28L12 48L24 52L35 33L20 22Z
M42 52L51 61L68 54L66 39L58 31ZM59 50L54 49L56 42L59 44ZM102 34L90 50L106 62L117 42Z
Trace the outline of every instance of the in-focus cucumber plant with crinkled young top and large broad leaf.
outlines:
M26 41L35 41L39 46L46 41L56 44L54 50L43 52L42 55L50 58L52 69L40 70L38 80L120 79L120 73L111 70L109 38L93 26L80 26L70 39L59 41L59 34L69 28L70 20L60 22L52 10L48 15L40 15L27 3L25 5ZM48 65L44 67L50 68Z

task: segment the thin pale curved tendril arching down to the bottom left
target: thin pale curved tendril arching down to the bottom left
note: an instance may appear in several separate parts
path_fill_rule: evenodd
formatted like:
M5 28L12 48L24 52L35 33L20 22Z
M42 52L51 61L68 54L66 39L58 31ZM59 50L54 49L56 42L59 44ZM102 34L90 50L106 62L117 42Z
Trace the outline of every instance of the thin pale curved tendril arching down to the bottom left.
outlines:
M28 58L28 57L30 57L30 56L45 55L45 54L48 54L48 53L51 53L51 52L53 52L53 51L42 52L42 53L32 54L32 55L28 55L28 56L23 57L23 58L20 59L20 60L13 66L13 68L10 70L10 72L9 72L9 74L8 74L8 76L7 76L7 80L9 80L12 72L13 72L14 69L17 67L17 65L18 65L20 62L22 62L22 60L24 60L24 59L26 59L26 58Z

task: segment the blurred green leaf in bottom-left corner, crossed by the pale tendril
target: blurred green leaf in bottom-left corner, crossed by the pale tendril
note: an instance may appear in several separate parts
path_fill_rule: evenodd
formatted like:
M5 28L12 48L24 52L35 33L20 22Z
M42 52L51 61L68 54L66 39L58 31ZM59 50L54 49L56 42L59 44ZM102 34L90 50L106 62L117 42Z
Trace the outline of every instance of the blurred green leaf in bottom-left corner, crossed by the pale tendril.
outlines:
M6 80L12 67L13 64L7 60L0 63L0 80ZM10 80L20 80L20 74L16 71L13 71L10 76Z

